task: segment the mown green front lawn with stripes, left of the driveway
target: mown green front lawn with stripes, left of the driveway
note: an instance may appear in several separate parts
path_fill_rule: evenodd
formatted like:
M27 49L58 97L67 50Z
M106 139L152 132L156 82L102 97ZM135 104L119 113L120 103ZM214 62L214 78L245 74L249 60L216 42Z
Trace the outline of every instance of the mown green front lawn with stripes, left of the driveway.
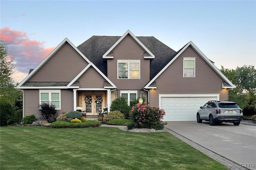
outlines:
M168 132L0 127L1 170L222 170Z

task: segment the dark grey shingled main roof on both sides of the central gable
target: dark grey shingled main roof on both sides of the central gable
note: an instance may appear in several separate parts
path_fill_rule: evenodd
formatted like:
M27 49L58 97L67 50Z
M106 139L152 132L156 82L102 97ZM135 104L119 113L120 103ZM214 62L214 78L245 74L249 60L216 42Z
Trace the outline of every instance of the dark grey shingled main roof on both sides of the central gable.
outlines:
M102 55L120 38L121 36L92 36L77 48L107 76L106 59L103 59ZM136 38L155 55L154 59L150 59L150 79L152 79L173 58L176 51L154 37Z

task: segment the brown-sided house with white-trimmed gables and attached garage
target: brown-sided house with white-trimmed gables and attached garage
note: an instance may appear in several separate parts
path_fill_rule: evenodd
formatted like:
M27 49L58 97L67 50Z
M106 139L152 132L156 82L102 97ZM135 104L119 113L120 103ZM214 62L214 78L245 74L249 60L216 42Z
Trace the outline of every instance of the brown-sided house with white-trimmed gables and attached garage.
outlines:
M23 116L40 117L38 104L52 102L58 114L83 107L97 115L117 97L145 97L165 109L164 121L196 121L209 100L228 99L234 85L193 42L174 51L154 37L92 36L75 47L65 38L18 85Z

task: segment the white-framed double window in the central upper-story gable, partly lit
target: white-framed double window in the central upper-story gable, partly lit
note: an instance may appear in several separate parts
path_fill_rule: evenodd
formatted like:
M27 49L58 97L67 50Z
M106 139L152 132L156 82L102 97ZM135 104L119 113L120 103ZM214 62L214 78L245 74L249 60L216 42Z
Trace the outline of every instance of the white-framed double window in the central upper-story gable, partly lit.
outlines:
M118 60L118 79L140 79L140 60Z

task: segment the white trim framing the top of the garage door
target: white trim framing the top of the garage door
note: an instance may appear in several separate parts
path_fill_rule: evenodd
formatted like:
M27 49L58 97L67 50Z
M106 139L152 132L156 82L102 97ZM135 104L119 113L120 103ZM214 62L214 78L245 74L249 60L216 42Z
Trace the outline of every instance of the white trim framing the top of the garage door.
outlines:
M161 106L161 97L217 97L220 100L220 94L159 94L158 106Z

